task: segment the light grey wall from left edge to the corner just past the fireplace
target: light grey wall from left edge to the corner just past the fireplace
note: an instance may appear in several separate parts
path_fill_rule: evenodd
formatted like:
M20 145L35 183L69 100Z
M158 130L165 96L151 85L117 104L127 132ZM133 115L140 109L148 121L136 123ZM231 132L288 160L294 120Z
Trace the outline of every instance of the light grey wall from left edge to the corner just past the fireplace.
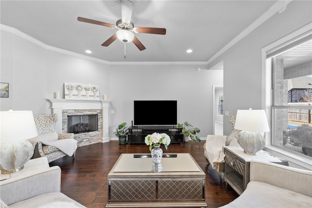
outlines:
M0 82L9 83L9 97L0 98L0 110L31 110L35 115L52 113L54 92L64 98L64 82L99 86L109 95L110 66L46 49L25 34L1 30Z

